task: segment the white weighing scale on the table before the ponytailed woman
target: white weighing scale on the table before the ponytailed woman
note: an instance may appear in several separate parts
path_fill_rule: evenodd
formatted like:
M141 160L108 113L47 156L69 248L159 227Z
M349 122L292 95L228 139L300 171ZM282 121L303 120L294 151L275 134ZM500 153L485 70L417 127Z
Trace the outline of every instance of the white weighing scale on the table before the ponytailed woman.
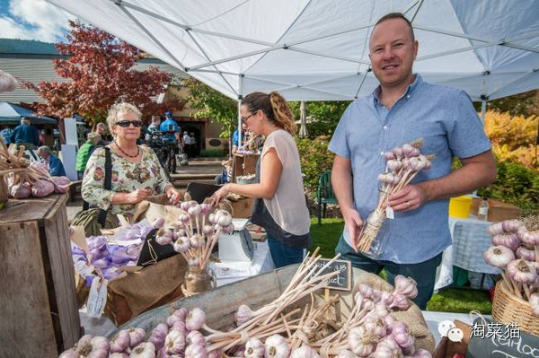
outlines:
M219 259L222 261L252 261L252 237L245 225L249 219L232 219L234 232L219 235Z

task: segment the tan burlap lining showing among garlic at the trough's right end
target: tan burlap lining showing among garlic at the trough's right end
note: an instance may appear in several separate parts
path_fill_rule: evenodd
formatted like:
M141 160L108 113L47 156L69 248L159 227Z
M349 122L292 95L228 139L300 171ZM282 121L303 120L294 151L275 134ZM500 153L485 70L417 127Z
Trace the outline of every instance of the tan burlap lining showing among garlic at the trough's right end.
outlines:
M361 275L354 284L354 294L358 292L359 284L368 284L376 290L387 291L390 293L394 290L394 287L391 284L388 284L383 278L374 274ZM417 349L423 348L432 354L436 344L434 336L430 333L420 308L412 301L408 301L411 303L408 310L392 312L392 316L395 319L406 323L406 326L410 328L410 334L415 337L415 346Z

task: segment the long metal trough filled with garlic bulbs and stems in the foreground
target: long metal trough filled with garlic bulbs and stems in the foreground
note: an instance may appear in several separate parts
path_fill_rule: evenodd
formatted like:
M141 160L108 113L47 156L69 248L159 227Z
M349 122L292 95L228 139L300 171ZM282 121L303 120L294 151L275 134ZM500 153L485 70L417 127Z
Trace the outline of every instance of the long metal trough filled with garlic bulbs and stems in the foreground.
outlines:
M324 299L317 291L339 272L321 275L333 260L320 266L319 258L146 312L120 327L108 346L85 336L62 356L105 354L105 347L111 356L431 356L432 336L406 298L417 293L412 281L402 276L393 288L354 268L353 292Z

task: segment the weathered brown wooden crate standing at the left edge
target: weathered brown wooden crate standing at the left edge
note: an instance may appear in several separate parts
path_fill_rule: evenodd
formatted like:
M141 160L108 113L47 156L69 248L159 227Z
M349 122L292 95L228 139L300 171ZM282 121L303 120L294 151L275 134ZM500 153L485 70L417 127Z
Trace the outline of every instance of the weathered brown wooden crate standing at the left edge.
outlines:
M0 356L55 357L81 332L67 194L0 211Z

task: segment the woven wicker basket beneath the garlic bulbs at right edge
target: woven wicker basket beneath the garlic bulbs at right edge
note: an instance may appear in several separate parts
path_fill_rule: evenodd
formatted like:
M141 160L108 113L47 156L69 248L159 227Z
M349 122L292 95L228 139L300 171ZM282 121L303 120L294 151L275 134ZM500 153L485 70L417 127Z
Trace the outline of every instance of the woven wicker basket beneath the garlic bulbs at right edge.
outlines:
M510 293L503 281L496 284L492 318L505 324L517 323L522 330L539 336L539 317L534 316L529 302Z

